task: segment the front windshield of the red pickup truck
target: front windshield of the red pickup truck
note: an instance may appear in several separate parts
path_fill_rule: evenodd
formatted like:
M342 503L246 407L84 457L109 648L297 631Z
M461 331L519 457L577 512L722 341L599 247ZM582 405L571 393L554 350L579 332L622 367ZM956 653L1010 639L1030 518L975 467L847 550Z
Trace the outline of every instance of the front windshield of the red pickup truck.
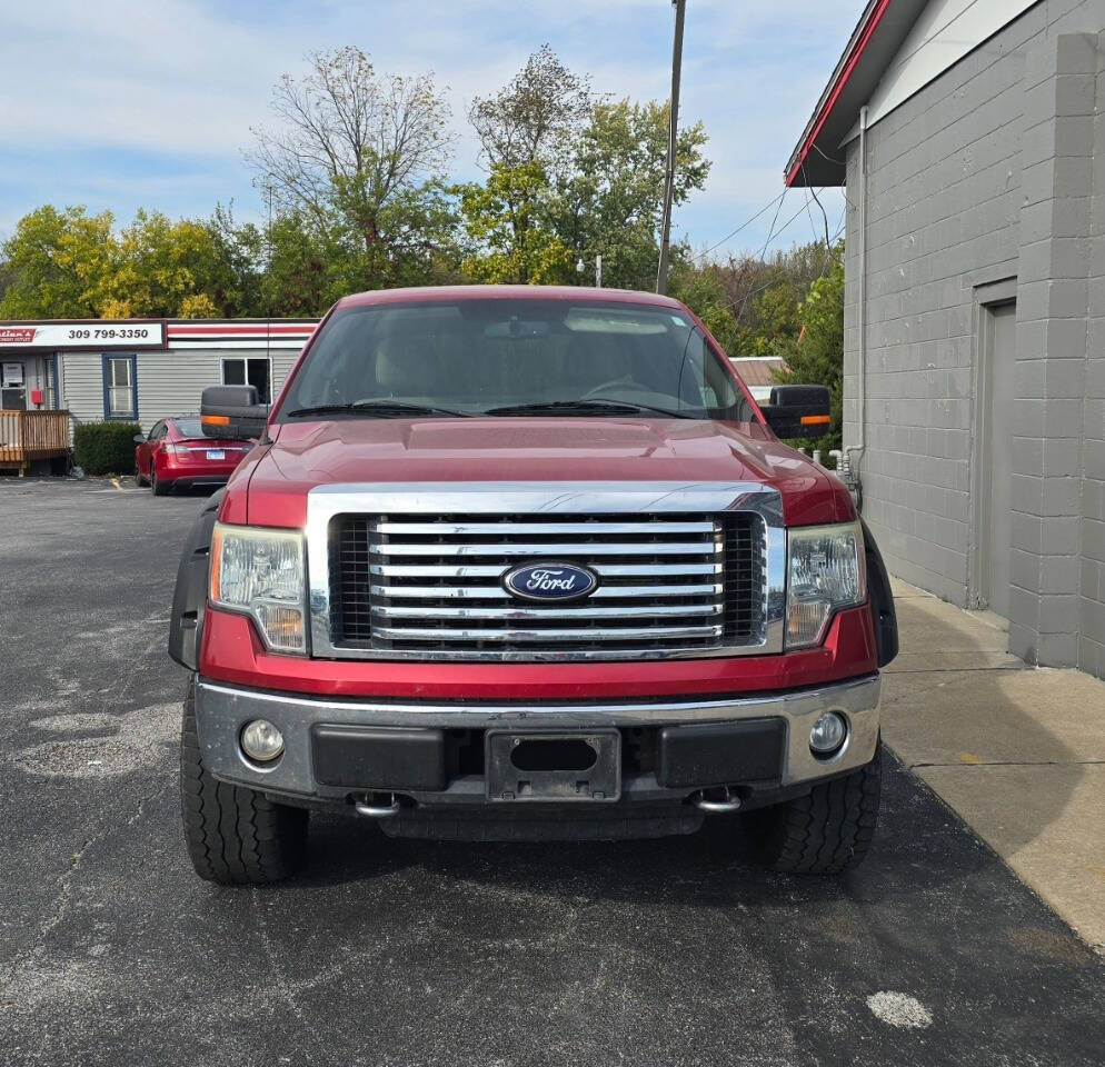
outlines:
M754 421L684 313L647 305L456 300L335 312L279 421L472 415Z

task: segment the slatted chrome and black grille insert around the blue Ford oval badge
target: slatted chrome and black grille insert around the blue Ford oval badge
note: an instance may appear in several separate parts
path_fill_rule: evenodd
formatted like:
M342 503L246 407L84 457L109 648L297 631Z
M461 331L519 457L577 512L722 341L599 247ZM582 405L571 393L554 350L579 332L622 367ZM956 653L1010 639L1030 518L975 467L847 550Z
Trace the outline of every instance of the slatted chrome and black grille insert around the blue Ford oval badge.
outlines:
M328 540L331 639L367 656L670 655L764 639L755 512L336 515ZM502 587L511 568L552 560L590 568L598 589L538 604Z

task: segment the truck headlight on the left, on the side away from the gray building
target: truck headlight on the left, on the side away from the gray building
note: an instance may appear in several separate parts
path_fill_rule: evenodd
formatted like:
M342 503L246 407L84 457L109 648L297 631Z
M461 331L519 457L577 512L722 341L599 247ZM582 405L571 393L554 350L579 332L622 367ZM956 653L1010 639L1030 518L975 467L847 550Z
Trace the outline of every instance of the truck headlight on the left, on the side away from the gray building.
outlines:
M252 616L273 651L307 651L305 590L298 530L215 523L211 602Z

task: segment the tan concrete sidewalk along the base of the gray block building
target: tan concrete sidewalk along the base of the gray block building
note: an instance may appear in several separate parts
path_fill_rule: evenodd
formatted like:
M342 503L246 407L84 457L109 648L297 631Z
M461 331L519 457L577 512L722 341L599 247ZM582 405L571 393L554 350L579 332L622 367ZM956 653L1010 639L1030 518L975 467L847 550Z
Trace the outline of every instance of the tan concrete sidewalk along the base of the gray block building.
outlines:
M886 670L884 740L1105 951L1105 682L1026 669L995 616L894 591L902 654Z

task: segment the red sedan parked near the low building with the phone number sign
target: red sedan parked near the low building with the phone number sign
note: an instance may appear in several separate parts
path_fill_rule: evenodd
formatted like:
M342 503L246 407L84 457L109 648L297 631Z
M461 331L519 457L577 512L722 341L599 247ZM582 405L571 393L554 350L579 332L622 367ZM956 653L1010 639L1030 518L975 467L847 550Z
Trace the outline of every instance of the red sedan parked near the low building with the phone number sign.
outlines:
M175 487L222 486L253 447L253 441L212 440L203 436L198 415L178 415L155 423L148 436L135 436L138 483L155 496Z

